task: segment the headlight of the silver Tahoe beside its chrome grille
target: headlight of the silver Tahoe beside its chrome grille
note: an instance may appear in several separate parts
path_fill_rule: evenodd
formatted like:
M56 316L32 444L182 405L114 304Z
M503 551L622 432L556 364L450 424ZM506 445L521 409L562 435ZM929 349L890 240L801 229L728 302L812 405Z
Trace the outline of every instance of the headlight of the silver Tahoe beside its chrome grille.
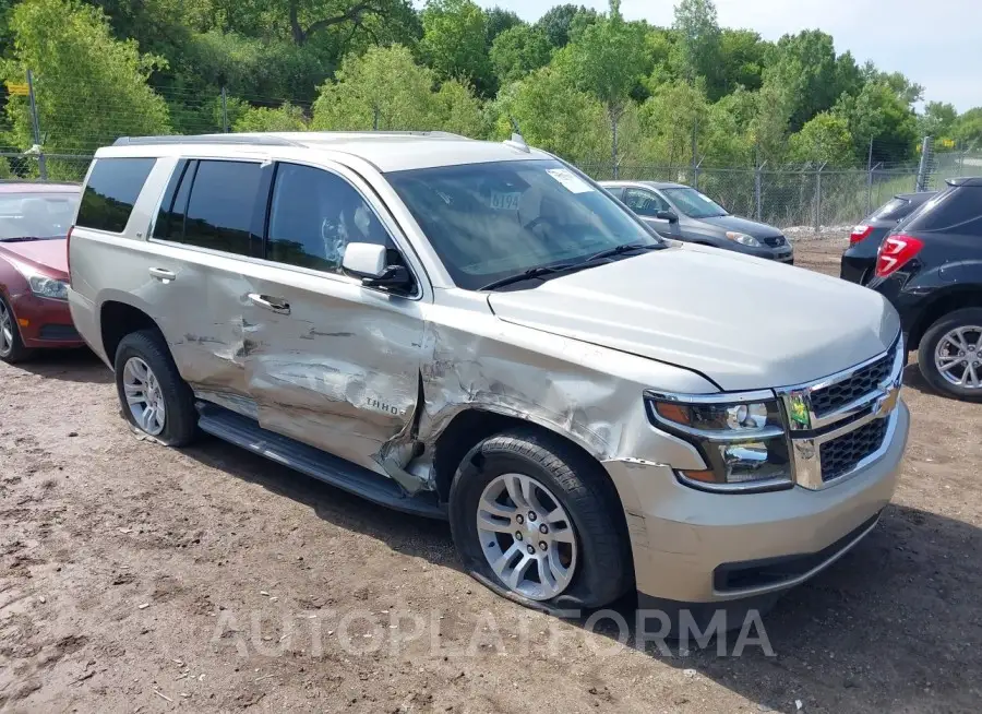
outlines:
M686 486L722 492L789 488L791 457L785 418L771 392L646 394L656 427L692 443L704 471L679 471Z

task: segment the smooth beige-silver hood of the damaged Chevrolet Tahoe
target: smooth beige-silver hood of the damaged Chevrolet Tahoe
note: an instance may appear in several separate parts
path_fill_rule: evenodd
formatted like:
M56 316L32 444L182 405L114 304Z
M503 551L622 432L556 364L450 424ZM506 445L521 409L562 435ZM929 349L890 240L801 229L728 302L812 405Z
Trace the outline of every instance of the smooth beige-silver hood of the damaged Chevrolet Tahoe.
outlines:
M724 391L831 374L886 350L900 330L878 293L693 245L488 299L507 322L692 369Z

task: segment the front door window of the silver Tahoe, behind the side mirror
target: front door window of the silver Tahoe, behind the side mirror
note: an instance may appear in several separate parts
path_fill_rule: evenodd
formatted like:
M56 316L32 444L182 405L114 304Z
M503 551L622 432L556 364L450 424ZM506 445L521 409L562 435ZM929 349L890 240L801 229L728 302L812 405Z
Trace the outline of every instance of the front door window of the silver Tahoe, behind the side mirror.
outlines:
M278 164L266 236L266 259L340 273L348 243L395 248L361 194L336 174Z

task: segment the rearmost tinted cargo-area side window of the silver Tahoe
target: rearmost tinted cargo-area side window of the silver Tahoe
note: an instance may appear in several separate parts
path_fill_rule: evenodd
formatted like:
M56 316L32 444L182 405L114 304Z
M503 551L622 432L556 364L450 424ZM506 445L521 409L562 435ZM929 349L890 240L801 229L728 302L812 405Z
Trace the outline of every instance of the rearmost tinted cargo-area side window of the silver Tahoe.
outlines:
M97 158L75 224L122 233L155 163L155 158Z

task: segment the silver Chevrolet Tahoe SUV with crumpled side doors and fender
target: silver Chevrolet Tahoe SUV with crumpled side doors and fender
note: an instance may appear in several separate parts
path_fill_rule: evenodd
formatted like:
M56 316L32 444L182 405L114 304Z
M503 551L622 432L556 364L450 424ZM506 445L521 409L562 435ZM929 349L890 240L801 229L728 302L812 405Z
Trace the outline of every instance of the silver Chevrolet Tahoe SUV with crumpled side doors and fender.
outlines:
M666 242L517 136L122 139L69 258L133 430L446 517L525 605L766 606L896 485L879 295Z

